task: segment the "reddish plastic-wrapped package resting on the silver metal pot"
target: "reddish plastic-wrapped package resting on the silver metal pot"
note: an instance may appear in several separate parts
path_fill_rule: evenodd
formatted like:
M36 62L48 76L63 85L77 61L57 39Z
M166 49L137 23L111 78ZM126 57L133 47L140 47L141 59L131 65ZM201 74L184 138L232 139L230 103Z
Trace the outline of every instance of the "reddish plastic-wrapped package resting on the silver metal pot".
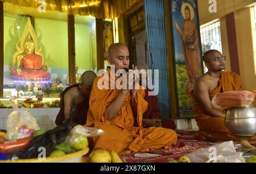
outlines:
M252 92L243 91L229 91L216 94L212 98L212 105L218 109L228 109L230 107L243 107L252 105L255 95Z

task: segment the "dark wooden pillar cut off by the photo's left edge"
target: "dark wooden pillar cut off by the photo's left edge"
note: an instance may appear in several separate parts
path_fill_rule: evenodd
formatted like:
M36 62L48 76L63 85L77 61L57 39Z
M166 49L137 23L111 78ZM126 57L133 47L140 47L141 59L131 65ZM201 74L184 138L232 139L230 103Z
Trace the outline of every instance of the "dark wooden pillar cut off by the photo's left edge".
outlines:
M3 2L0 1L0 98L3 97Z

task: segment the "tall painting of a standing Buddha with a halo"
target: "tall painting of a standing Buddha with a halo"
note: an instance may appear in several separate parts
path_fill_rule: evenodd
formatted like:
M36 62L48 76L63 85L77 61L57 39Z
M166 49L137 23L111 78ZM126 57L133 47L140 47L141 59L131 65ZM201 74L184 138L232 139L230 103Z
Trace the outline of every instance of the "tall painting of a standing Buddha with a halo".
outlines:
M171 0L176 92L180 118L193 117L193 85L203 74L196 0Z

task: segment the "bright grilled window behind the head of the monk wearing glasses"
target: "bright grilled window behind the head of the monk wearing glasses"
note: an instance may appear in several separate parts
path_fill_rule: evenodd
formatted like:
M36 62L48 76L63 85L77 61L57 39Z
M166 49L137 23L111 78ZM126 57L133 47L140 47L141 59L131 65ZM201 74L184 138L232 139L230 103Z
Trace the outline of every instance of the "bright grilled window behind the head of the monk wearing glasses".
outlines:
M219 20L207 26L200 27L200 34L203 54L210 49L217 49L218 51L222 52ZM205 65L204 72L207 72Z

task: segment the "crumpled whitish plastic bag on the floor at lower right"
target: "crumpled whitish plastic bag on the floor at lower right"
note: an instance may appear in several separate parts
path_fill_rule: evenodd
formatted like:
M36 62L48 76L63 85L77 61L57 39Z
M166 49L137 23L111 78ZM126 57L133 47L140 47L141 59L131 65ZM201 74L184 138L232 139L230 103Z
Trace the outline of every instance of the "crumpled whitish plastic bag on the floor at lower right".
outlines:
M233 141L200 148L186 155L192 163L245 163L242 152L237 152Z

